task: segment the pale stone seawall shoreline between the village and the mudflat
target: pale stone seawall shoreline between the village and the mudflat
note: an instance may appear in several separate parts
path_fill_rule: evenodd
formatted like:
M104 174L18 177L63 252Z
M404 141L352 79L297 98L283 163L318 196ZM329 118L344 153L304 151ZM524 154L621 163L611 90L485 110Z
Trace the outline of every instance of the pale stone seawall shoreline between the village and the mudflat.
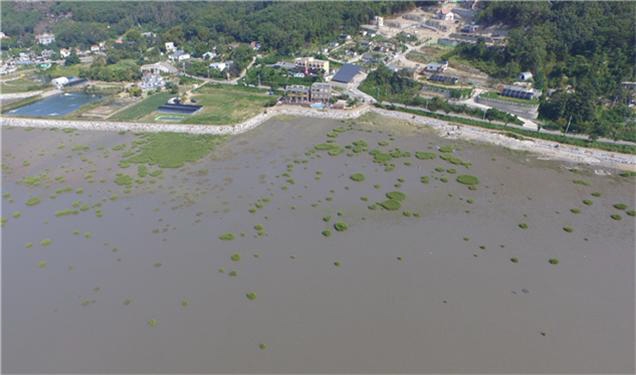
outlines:
M355 119L367 113L376 113L409 122L416 126L427 126L436 130L440 136L451 139L464 139L485 142L513 150L529 151L547 159L570 161L602 166L627 171L636 171L636 156L610 152L598 149L572 146L542 139L515 139L498 131L456 125L448 121L429 117L412 115L386 109L361 106L354 110L320 111L311 108L280 106L267 109L265 112L251 117L235 125L189 125L189 124L158 124L115 121L77 121L34 119L27 117L0 117L0 125L6 127L28 128L72 128L77 130L95 131L132 131L142 133L175 132L189 134L237 135L254 129L266 121L281 115L321 118L321 119Z

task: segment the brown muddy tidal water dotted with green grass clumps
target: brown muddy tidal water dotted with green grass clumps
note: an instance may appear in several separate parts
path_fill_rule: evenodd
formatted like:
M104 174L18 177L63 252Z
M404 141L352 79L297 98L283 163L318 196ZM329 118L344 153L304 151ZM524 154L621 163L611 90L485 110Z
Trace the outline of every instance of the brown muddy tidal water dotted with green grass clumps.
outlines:
M5 372L634 371L634 179L616 171L382 118L283 119L126 192L115 175L137 166L112 147L135 135L2 136ZM385 171L311 151L328 139L411 156ZM368 208L391 191L401 209Z

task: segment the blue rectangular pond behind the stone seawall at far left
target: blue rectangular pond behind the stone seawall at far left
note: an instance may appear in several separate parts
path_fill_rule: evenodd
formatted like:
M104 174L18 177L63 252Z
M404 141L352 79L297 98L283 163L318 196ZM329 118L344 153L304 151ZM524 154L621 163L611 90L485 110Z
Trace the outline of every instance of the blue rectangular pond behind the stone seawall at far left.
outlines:
M49 96L35 103L25 105L9 111L14 116L57 117L75 112L81 106L99 100L98 95L90 95L83 92L63 93Z

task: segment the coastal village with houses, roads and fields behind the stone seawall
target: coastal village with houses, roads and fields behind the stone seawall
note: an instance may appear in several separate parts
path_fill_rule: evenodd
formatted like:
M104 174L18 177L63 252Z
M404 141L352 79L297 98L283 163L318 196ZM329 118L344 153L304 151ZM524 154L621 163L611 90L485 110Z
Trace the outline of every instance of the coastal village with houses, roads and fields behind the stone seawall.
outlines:
M86 105L65 113L65 119L210 125L245 121L258 114L259 107L266 112L273 106L301 106L324 113L375 105L433 114L450 111L467 121L558 134L537 119L539 98L554 90L536 88L536 72L500 80L452 54L458 45L506 44L506 27L482 28L475 22L480 6L479 1L439 1L391 17L375 16L357 33L342 33L290 56L263 51L258 41L195 52L149 30L59 48L55 34L43 31L34 36L33 47L2 51L0 103L5 116L29 116L29 106L43 99L62 92L87 93L99 100L87 99ZM4 33L0 37L11 38ZM104 65L140 44L147 47L143 61ZM380 70L415 85L418 91L409 101L418 104L393 102L366 82ZM632 93L633 107L636 85L623 84ZM245 103L252 110L233 108L231 96L250 90L261 95ZM215 116L218 112L236 115Z

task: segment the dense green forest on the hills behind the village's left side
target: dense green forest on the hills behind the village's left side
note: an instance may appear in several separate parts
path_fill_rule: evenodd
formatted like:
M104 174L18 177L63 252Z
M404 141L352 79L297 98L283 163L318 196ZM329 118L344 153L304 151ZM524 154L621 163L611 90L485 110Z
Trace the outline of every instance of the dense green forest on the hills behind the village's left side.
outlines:
M59 19L52 30L60 47L90 45L139 28L159 34L190 53L231 42L258 41L264 49L289 54L301 47L355 33L375 15L394 13L414 2L3 2L3 31L23 45L33 43L47 14Z

